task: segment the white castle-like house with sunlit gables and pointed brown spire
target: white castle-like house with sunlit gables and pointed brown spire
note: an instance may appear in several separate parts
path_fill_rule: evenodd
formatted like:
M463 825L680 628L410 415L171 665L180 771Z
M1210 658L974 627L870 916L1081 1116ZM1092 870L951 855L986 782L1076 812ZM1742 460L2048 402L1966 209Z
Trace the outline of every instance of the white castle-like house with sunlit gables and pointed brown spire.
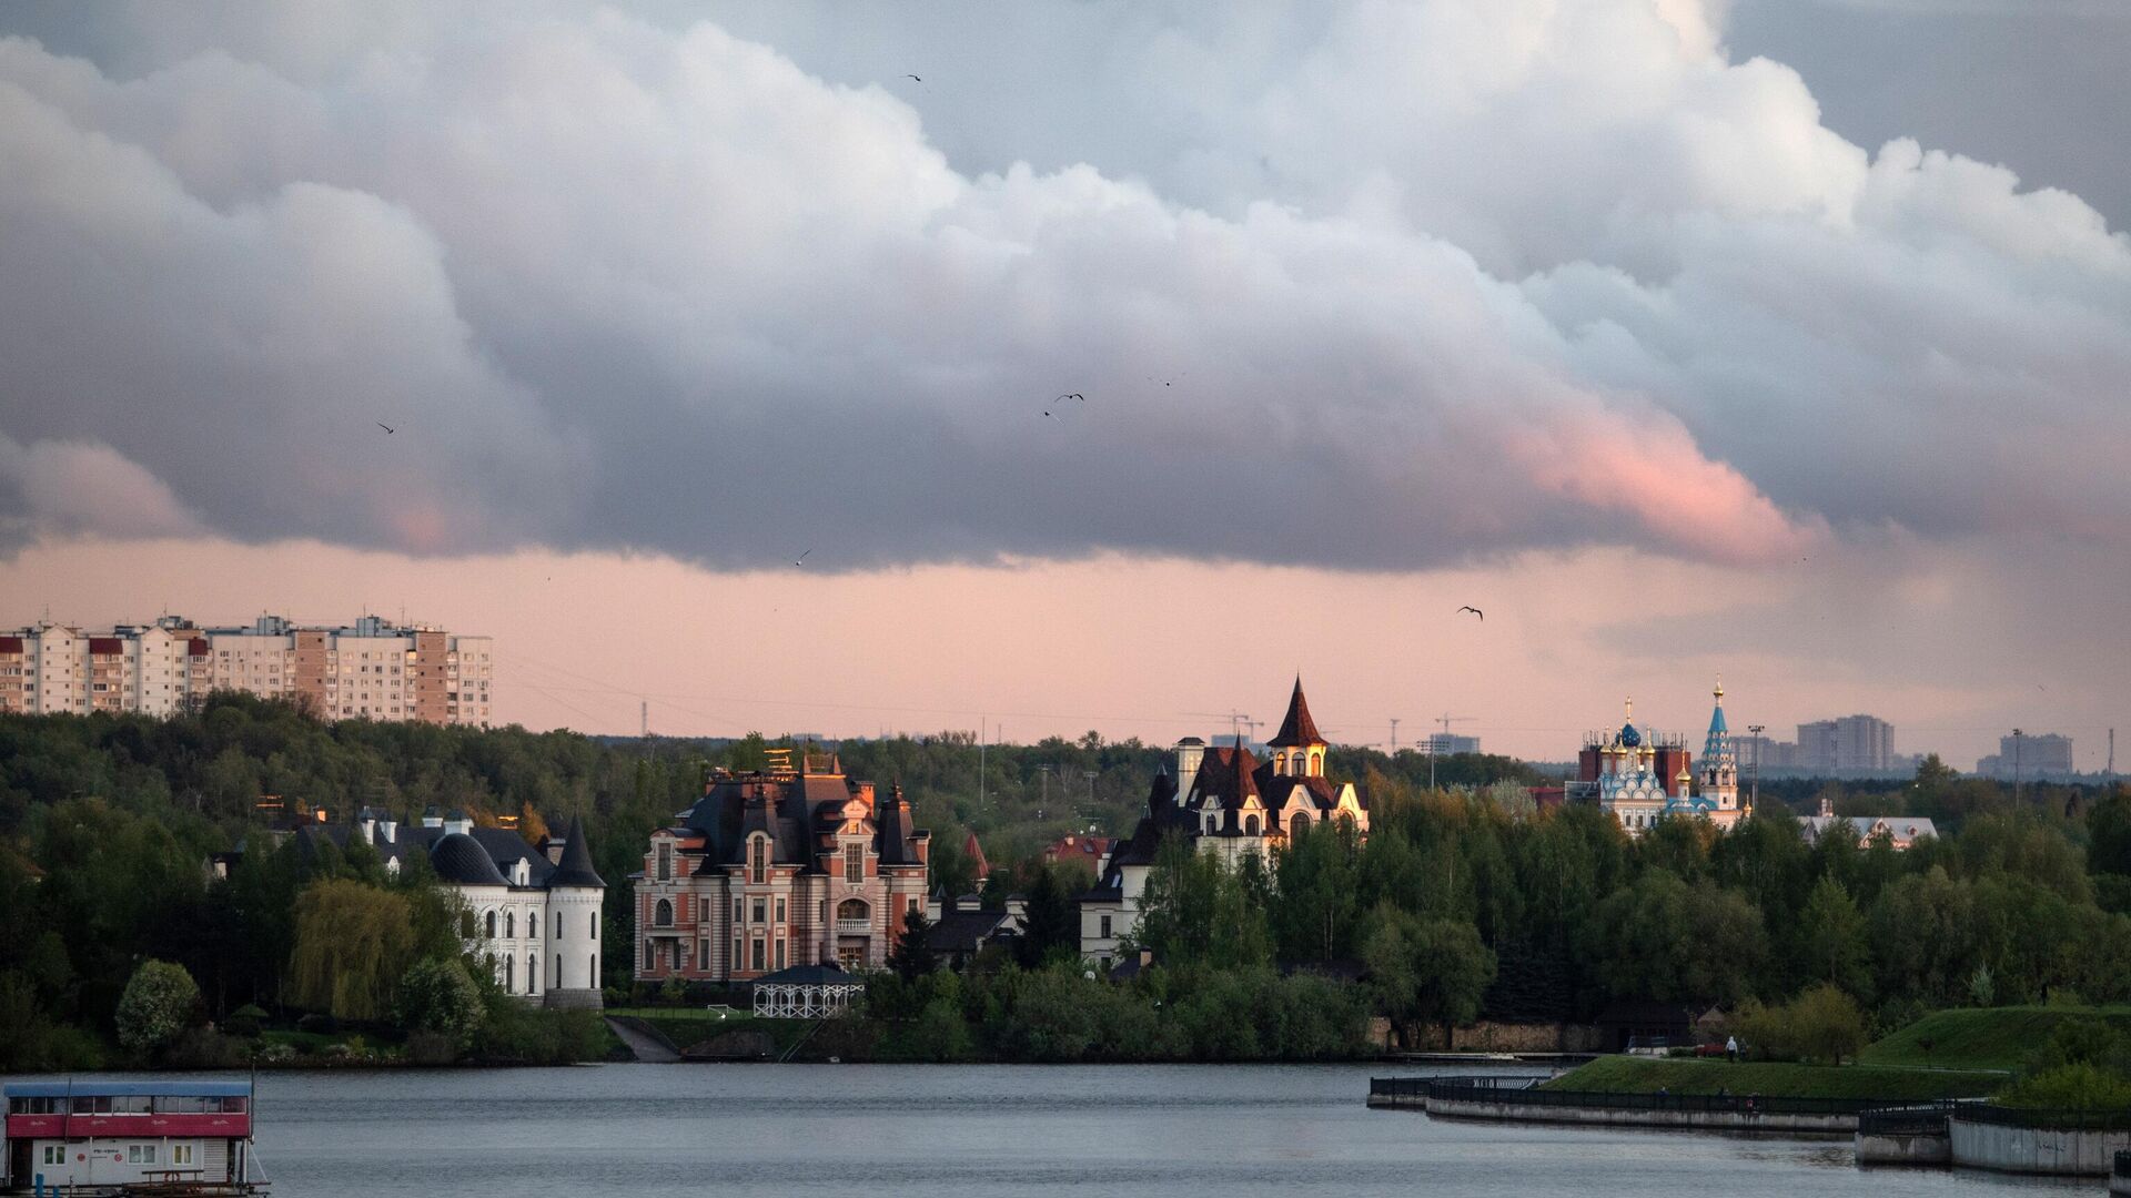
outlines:
M1117 959L1119 940L1140 921L1140 893L1164 836L1181 836L1230 865L1251 853L1270 861L1289 836L1330 821L1366 838L1368 799L1353 782L1325 778L1330 748L1300 678L1281 731L1266 744L1268 759L1259 761L1242 738L1234 746L1208 746L1195 735L1176 742L1176 772L1155 776L1138 827L1117 842L1095 887L1078 897L1080 955L1102 968Z

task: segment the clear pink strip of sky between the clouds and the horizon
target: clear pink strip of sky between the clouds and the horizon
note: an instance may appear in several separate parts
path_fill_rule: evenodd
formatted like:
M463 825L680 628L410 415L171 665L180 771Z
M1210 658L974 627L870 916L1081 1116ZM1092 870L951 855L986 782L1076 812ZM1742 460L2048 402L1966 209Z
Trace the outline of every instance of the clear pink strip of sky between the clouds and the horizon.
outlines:
M0 622L109 625L168 610L347 622L364 610L490 633L503 721L629 733L974 729L1172 742L1240 710L1276 721L1300 671L1340 742L1426 735L1436 714L1490 750L1571 757L1620 718L1698 731L1722 671L1735 729L1873 712L1897 750L1961 767L2001 729L2065 731L2099 767L2118 691L2108 654L1997 618L2024 595L1971 565L1875 550L1799 571L1624 550L1522 554L1430 573L1338 573L1155 558L710 573L661 556L522 552L411 558L320 544L58 541L0 563ZM833 569L833 561L823 561ZM1460 603L1487 612L1455 616ZM2110 616L2067 612L2065 633ZM1995 631L1992 631L1995 629ZM1992 646L2014 631L2033 644ZM2078 640L2078 637L2073 637ZM2029 680L2033 676L2033 680Z

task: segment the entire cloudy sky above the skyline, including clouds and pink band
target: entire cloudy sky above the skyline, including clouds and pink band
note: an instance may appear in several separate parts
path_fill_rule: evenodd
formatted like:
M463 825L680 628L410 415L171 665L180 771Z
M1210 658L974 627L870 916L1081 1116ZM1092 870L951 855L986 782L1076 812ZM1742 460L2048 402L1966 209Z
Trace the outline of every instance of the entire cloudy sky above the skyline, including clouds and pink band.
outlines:
M2127 53L2105 0L13 4L0 625L405 614L584 731L1168 742L1300 674L1562 759L1722 676L2099 767Z

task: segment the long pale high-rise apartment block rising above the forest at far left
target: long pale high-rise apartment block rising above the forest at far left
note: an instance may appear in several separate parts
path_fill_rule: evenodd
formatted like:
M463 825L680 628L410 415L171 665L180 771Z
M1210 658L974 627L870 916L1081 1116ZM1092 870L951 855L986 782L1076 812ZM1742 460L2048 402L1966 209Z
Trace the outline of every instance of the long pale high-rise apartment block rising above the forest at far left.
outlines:
M486 725L494 640L364 616L347 627L153 625L81 631L43 622L0 635L0 712L196 710L213 691L305 703L332 721Z

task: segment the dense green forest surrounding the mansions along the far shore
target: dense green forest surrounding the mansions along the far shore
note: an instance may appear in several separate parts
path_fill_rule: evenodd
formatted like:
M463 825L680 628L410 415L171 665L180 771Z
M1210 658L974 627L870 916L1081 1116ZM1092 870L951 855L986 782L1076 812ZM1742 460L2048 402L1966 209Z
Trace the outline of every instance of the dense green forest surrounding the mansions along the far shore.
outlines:
M452 912L422 870L386 878L360 848L313 861L283 848L245 853L211 883L207 857L271 842L264 795L335 816L465 808L477 821L516 816L528 833L582 816L612 885L605 976L620 983L624 878L641 868L646 836L701 793L710 767L761 765L767 748L763 738L326 725L241 695L168 721L0 718L0 1066L87 1064L151 1042L121 1032L124 1013L175 1002L177 983L153 961L179 966L198 1015L224 1027L309 1013L420 1030L443 1038L426 1045L441 1057L582 1055L586 1027L528 1017L484 978L454 974ZM850 776L906 789L933 829L940 885L978 883L959 851L976 831L1006 870L993 889L1031 893L1038 929L1016 961L953 983L912 970L880 993L882 1015L914 1025L961 1019L974 1038L948 1036L946 1055L1072 1057L1061 1042L1132 1055L1102 1049L1104 1034L1085 1025L1093 1010L1129 1027L1168 1013L1155 1021L1166 1038L1144 1055L1215 1051L1202 1040L1219 1036L1219 1021L1176 1023L1189 993L1230 993L1259 1015L1317 1013L1266 1015L1274 1023L1255 1032L1257 1047L1219 1049L1230 1055L1287 1055L1289 1034L1306 1045L1300 1055L1351 1047L1368 1010L1413 1027L1556 1021L1588 1019L1613 998L1779 1004L1816 983L1880 1027L1943 1006L2131 1000L2122 789L2016 797L1933 759L1905 784L1769 787L1762 810L1730 833L1675 821L1628 840L1594 808L1536 810L1526 784L1543 778L1509 759L1441 759L1430 791L1424 755L1338 750L1332 770L1370 795L1368 842L1323 827L1234 872L1172 846L1140 932L1159 968L1097 993L1087 987L1104 983L1072 959L1059 914L1083 878L1044 876L1031 861L1066 831L1129 831L1166 750L1095 735L978 746L942 733L840 752ZM1907 853L1839 838L1811 846L1790 804L1820 799L1931 816L1943 838ZM1298 974L1311 981L1289 981ZM1021 995L1042 1002L1023 1013ZM1042 1010L1080 1030L1053 1034ZM168 1051L170 1038L156 1045Z

